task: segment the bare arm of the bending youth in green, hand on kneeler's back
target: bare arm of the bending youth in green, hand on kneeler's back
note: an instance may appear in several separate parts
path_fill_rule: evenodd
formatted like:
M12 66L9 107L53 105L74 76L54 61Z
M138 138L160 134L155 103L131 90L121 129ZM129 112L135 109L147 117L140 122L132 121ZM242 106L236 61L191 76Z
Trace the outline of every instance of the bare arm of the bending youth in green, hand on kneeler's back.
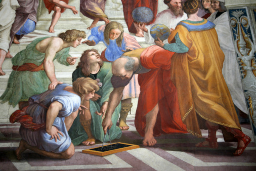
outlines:
M54 63L53 63L53 59L60 48L61 48L61 40L57 38L53 38L49 42L45 52L44 69L47 77L51 81L48 87L49 90L54 90L58 83L63 83L57 80L55 75Z

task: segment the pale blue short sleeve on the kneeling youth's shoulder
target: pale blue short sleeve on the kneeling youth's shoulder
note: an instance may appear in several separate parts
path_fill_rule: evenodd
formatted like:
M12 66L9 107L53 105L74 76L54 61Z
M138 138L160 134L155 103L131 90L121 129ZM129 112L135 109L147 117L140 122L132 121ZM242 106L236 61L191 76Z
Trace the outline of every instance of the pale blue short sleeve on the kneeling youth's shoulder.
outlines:
M67 117L71 113L75 112L81 103L78 96L55 96L52 98L51 102L60 102L62 104L62 109L59 111L59 117Z

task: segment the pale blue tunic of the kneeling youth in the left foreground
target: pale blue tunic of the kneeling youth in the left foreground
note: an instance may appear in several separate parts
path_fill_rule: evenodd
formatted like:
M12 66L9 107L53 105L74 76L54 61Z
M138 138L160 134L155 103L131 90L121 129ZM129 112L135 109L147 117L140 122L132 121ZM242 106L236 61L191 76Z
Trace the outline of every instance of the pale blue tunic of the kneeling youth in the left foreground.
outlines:
M64 152L70 146L71 139L68 135L64 120L65 117L78 110L81 100L78 95L63 90L67 86L71 85L66 83L59 84L54 90L48 90L40 95L34 95L29 98L29 107L26 113L33 118L33 122L35 123L46 122L47 108L51 103L58 101L62 104L62 109L55 118L53 125L63 134L63 137L59 134L61 141L57 140L57 142L55 142L55 139L50 140L51 136L45 129L31 131L20 126L20 135L29 145L36 146L40 150L55 153Z

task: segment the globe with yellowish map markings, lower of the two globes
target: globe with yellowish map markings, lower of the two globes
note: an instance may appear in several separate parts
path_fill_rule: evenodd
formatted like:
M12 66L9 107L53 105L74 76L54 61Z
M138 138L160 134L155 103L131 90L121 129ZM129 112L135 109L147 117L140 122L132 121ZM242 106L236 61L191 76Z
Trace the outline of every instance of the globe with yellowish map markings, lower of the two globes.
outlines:
M150 34L155 40L159 37L163 41L170 35L170 29L164 24L155 24L150 28Z

